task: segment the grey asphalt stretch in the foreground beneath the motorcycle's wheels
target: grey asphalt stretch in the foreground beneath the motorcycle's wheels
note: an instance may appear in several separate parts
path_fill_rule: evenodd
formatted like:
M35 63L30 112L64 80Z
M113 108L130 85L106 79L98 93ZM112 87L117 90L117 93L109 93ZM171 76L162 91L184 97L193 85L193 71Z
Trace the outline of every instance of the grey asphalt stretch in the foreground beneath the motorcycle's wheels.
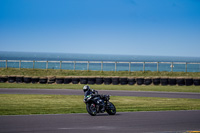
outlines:
M0 133L183 133L200 131L200 111L127 112L114 116L0 116Z

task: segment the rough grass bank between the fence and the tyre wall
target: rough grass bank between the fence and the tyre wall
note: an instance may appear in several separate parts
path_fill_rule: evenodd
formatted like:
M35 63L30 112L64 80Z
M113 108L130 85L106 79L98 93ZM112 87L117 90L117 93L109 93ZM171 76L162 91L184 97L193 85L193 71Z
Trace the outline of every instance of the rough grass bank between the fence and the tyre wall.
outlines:
M200 77L200 72L151 72L151 71L80 71L80 70L55 70L55 69L18 69L0 68L0 75L24 75L24 76L169 76L169 77Z

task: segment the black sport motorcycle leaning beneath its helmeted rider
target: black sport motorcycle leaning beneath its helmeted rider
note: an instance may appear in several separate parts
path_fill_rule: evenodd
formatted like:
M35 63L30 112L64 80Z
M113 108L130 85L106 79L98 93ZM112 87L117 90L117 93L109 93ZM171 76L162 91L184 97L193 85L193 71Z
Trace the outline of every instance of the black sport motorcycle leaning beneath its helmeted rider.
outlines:
M99 95L98 91L84 98L87 112L92 116L97 115L97 113L104 113L105 111L109 115L115 115L116 108L109 100L110 95Z

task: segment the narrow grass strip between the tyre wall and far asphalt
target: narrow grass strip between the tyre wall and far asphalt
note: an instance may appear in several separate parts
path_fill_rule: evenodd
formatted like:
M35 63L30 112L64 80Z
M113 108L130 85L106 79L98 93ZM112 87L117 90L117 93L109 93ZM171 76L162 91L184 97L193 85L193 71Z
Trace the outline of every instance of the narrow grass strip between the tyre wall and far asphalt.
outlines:
M34 89L82 89L82 84L25 84L0 83L0 88L34 88ZM155 86L155 85L89 85L95 90L129 90L129 91L165 91L200 93L200 86Z

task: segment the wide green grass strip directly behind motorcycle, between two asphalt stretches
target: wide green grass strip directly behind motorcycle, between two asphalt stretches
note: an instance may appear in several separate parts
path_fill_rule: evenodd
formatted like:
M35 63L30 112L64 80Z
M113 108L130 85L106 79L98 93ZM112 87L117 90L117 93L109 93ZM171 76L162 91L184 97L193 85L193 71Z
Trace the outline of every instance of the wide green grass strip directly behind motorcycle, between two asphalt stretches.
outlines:
M200 99L112 96L118 112L199 110ZM0 94L0 115L86 113L83 96Z

